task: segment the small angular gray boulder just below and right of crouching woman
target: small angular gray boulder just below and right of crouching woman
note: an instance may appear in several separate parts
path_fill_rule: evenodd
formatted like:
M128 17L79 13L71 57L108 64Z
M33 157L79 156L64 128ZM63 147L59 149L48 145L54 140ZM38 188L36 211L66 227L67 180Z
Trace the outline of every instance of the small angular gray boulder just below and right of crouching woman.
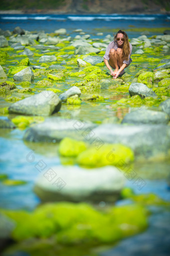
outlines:
M143 83L131 83L128 92L130 96L139 95L141 98L156 97L155 92Z

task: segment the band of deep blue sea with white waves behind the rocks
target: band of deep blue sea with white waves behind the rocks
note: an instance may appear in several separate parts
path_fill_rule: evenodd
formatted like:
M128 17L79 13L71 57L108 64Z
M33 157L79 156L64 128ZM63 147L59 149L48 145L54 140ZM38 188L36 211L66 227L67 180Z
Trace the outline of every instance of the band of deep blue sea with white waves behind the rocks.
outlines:
M161 14L98 14L98 15L45 15L45 14L22 14L0 15L0 28L12 31L15 27L21 27L29 31L54 32L65 28L68 33L75 29L83 29L86 33L96 33L94 29L127 29L129 26L137 28L160 28L170 27L170 15ZM99 31L97 31L99 32ZM155 34L155 33L154 33Z

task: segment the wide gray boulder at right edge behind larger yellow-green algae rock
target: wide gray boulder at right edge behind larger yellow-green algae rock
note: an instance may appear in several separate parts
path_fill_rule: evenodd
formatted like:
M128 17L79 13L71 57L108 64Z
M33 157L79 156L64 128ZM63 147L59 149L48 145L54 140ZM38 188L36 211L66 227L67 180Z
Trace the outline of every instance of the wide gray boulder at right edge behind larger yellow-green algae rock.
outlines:
M130 147L135 157L167 157L170 149L170 127L163 124L101 124L91 131L105 143L120 143ZM89 134L89 137L90 137ZM93 141L94 136L89 141Z

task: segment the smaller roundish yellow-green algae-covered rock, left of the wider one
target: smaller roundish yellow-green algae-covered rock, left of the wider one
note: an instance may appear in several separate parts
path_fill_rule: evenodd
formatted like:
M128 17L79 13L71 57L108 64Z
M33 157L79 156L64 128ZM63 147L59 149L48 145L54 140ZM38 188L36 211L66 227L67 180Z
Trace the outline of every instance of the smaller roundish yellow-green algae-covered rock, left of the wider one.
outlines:
M70 138L64 138L59 143L59 154L64 157L76 157L82 151L86 150L87 146L82 141L76 141Z

